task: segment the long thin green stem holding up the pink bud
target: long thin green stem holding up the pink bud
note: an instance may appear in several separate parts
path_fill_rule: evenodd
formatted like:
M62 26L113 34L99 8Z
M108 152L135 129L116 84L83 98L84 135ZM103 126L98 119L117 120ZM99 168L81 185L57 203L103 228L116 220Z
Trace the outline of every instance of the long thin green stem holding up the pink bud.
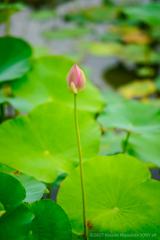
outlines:
M87 233L86 196L85 196L85 185L84 185L84 174L83 174L82 150L81 150L81 142L80 142L80 135L79 135L79 127L78 127L78 116L77 116L77 94L74 94L74 116L75 116L75 126L76 126L77 144L78 144L78 151L79 151L80 176L81 176L81 186L82 186L84 238L85 240L87 240L88 233Z

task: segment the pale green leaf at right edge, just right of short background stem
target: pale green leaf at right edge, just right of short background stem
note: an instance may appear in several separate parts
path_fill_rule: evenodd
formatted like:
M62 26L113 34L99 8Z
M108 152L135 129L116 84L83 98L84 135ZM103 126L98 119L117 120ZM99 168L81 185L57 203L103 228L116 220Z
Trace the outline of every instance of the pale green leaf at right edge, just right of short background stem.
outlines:
M137 135L131 134L127 152L144 163L153 163L160 167L160 133Z

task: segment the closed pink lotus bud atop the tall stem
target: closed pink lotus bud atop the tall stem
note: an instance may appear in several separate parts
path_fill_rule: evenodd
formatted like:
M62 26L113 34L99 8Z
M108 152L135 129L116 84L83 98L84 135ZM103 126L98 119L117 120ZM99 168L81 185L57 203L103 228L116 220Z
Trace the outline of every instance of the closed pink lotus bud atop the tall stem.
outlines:
M67 74L68 90L77 94L82 92L86 86L86 78L84 72L75 64Z

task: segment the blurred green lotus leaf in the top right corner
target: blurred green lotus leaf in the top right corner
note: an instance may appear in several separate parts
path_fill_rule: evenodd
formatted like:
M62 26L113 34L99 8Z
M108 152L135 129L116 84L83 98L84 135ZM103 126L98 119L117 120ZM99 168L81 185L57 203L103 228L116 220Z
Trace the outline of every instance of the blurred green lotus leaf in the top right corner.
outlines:
M151 3L141 6L124 7L122 12L132 21L145 22L151 26L160 23L160 4Z

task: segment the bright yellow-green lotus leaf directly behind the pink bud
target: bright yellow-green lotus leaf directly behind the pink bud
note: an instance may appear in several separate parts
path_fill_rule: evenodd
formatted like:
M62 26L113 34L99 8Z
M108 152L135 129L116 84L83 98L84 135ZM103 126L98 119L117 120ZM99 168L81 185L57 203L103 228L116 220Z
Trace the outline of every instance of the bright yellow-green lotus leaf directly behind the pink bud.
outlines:
M73 65L73 61L64 57L41 57L28 74L13 83L13 93L27 99L35 106L58 100L73 107L73 94L68 91L66 82L67 73ZM87 81L85 91L78 94L78 108L99 112L102 105L103 101L98 89Z

